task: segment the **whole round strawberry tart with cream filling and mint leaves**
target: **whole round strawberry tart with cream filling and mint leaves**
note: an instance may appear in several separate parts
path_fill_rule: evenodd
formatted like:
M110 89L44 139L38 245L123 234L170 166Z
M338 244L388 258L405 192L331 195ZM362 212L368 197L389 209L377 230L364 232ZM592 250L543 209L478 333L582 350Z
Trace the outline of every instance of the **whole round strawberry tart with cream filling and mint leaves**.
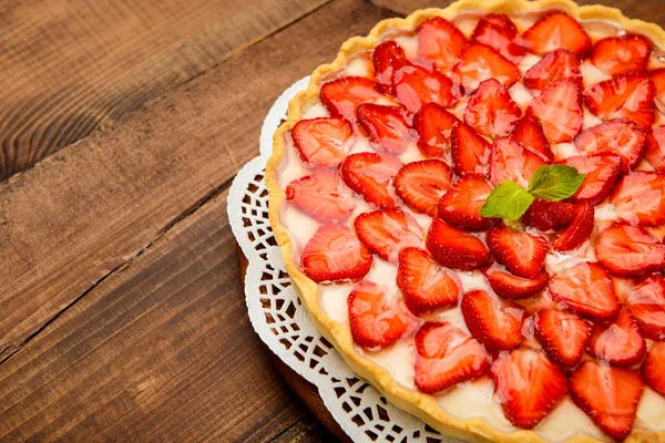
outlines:
M320 332L471 441L665 441L665 32L566 0L378 23L274 137Z

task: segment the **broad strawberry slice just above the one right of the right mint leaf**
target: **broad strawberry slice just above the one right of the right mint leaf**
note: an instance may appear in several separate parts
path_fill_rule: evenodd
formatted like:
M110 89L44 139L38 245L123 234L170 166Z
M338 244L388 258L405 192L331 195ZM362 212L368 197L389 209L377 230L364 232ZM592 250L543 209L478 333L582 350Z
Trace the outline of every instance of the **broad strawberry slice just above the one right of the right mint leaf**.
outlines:
M575 137L582 154L617 154L623 158L622 171L633 169L644 155L645 134L630 120L620 119L590 127Z

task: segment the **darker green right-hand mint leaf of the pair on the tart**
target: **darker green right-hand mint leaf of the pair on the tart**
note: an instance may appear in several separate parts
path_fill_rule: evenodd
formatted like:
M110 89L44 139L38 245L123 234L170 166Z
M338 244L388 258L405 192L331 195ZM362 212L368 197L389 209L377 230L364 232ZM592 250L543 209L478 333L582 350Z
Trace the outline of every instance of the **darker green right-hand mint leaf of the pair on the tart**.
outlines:
M559 202L575 194L584 174L567 165L541 166L531 176L529 193L536 198Z

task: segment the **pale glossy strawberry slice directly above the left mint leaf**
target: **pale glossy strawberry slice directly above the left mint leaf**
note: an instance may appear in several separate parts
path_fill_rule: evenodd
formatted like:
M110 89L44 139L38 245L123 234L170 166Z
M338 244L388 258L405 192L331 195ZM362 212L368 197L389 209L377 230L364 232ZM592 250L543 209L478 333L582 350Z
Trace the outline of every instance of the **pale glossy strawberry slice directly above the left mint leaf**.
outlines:
M492 145L490 156L490 179L498 186L501 182L511 181L529 187L531 176L545 162L540 155L526 150L509 137L500 137Z

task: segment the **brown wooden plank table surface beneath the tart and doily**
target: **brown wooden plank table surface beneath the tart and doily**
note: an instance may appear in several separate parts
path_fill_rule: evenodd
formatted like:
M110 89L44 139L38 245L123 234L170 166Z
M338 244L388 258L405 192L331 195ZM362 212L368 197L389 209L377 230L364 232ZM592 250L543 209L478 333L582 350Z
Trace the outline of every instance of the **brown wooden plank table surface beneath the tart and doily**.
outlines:
M249 326L228 186L286 86L448 3L0 1L0 441L330 440Z

